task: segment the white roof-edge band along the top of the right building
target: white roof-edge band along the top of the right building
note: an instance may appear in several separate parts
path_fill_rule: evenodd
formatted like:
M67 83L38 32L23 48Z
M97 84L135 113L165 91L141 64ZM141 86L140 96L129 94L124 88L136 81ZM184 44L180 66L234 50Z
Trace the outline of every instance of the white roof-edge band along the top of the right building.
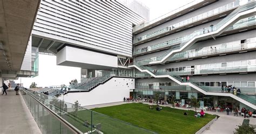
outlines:
M179 17L180 15L185 15L188 12L197 10L197 9L199 9L199 8L205 6L205 5L211 4L213 2L215 2L215 0L193 1L191 3L188 3L188 4L184 5L184 6L181 6L178 9L175 9L175 10L169 12L169 13L166 13L165 15L160 16L159 18L151 20L150 22L134 26L133 27L133 33L138 34L140 32L143 32L143 31L147 30L147 29L151 29L152 27L155 27L155 26L157 26L161 23L165 23L165 22L170 21L171 18L174 19L174 18Z

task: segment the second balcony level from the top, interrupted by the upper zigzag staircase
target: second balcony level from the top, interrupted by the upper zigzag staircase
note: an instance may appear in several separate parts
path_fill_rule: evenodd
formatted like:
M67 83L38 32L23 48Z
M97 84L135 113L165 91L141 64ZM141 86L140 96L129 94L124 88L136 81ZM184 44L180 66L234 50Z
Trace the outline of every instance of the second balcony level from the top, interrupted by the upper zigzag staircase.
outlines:
M223 34L221 34L220 36L226 36L228 34L233 34L233 33L238 33L238 32L245 31L245 30L255 29L255 24L256 24L255 16L241 19L237 23L235 23L233 26L229 27L226 31L224 31ZM208 29L204 30L205 33L207 33L207 30ZM177 50L181 47L180 44L183 43L184 41L187 41L186 39L189 37L190 37L190 35L178 37L175 39L165 41L163 43L159 43L156 45L151 45L151 46L147 46L142 49L138 49L133 52L133 56L136 57L139 55L158 52L158 51L162 51L162 50L166 50L166 49Z

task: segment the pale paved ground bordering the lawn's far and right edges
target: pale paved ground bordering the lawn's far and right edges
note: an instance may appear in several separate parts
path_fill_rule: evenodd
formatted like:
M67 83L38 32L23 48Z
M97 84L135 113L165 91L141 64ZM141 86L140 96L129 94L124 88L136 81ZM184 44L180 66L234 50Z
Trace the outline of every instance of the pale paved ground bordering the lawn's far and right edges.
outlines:
M112 105L120 105L120 104L125 104L125 103L131 103L131 102L115 102L115 103L106 103L106 104L99 104L99 105L90 105L85 108L101 108L101 107L109 107ZM147 103L144 102L145 104L150 104L152 105L153 103ZM161 107L171 107L171 105L161 105ZM187 109L187 108L179 108L175 107L176 109L182 109L182 110L194 110L194 108ZM198 109L199 110L199 109ZM230 115L226 115L226 112L215 112L215 111L206 111L207 114L211 115L218 115L220 116L217 121L215 121L210 128L205 130L203 133L204 134L231 134L234 133L235 128L237 128L237 125L242 124L242 121L244 121L244 117L241 116L234 116L231 112ZM250 124L256 125L256 118L249 118L250 119Z

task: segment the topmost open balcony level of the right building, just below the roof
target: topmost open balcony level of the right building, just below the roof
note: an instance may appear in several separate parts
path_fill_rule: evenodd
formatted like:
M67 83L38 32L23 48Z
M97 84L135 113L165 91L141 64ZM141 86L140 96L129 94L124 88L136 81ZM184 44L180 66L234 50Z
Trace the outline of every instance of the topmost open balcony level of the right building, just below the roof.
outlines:
M147 41L158 39L160 37L164 37L181 30L189 29L190 27L193 27L193 26L201 25L202 23L211 22L212 20L225 17L228 14L230 14L238 6L239 6L239 1L226 4L217 9L213 9L211 11L202 13L201 15L183 20L182 22L170 25L168 27L165 27L164 29L157 30L143 37L139 37L136 40L134 40L133 45L146 43Z

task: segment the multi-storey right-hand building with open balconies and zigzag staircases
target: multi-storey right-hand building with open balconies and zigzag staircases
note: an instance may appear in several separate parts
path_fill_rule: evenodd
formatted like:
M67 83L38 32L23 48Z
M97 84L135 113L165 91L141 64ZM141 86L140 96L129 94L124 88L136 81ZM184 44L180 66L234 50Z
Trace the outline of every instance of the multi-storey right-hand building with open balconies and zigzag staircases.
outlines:
M131 95L255 109L255 15L255 1L195 1L134 26ZM231 85L241 93L226 93Z

